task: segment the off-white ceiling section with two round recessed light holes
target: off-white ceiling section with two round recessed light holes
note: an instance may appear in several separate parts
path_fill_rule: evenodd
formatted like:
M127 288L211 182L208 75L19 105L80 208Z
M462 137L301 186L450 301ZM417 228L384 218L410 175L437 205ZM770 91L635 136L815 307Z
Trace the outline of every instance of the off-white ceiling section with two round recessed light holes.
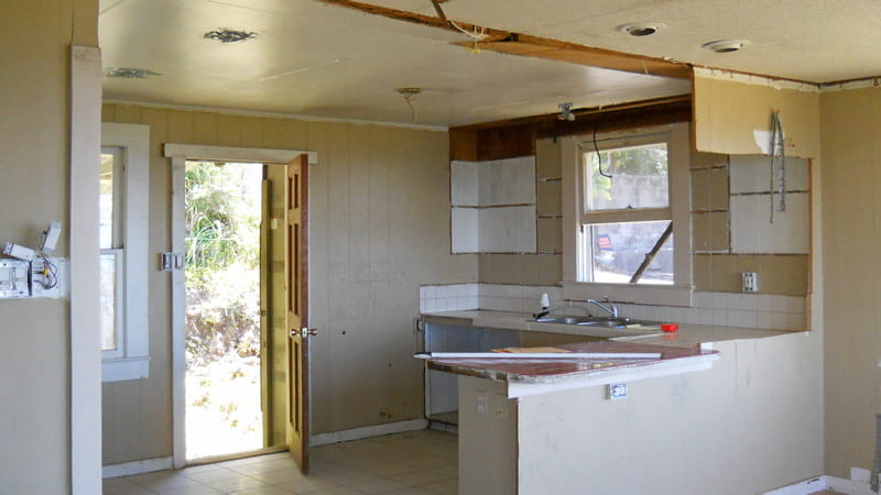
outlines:
M434 15L428 0L373 3ZM879 0L450 0L447 16L503 31L670 57L813 82L881 74ZM660 22L652 36L616 31L630 22ZM747 38L741 52L700 47L722 38Z

